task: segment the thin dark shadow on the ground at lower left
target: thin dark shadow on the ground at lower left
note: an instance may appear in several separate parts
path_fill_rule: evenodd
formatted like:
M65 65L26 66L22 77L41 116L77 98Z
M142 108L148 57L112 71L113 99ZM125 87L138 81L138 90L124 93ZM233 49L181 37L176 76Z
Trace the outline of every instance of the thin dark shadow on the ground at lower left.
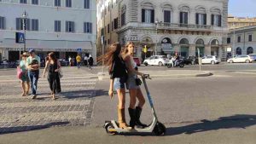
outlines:
M67 125L67 124L69 124L69 122L53 122L53 123L43 124L43 125L17 126L17 127L14 126L14 127L8 127L8 128L2 127L0 128L0 135L31 131L31 130L43 130L53 126L61 126L61 125Z

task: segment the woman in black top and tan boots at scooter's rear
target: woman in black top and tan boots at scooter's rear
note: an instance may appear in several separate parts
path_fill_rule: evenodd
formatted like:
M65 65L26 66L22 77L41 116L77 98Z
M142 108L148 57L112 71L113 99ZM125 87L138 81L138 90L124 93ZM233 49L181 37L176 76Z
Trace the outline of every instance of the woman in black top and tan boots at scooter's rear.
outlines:
M125 130L131 130L125 121L125 82L127 80L127 72L125 69L125 61L121 56L121 45L119 43L113 43L103 60L105 65L108 66L108 72L110 74L110 87L108 95L113 98L113 89L116 90L119 104L118 104L118 118L119 128Z

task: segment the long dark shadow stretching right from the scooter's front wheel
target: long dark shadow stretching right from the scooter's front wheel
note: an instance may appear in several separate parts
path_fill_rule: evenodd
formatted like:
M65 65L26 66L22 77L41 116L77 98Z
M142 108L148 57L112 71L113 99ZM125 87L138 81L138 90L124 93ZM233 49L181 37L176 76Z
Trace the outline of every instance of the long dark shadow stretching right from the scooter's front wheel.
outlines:
M221 129L246 129L256 124L256 115L234 115L221 117L217 120L201 120L201 123L190 124L182 127L167 128L166 135L195 134L198 132Z

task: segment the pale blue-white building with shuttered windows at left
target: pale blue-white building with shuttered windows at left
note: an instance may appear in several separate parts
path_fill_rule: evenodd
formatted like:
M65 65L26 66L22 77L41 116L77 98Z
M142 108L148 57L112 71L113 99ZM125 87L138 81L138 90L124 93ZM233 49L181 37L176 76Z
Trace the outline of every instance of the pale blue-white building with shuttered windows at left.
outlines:
M22 14L26 11L26 20ZM24 32L26 49L15 43L15 32ZM81 55L96 58L95 0L0 1L0 54L19 60L20 51L35 49L41 58L54 51L58 58Z

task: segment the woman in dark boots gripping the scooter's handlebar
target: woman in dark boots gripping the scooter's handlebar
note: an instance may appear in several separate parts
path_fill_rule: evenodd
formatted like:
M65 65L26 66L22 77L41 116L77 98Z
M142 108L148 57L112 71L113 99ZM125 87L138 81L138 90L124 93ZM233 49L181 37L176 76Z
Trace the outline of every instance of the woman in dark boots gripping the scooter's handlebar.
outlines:
M130 126L132 128L134 128L134 126L144 128L147 127L147 125L141 123L140 116L143 110L143 105L145 104L145 98L142 90L140 89L142 81L137 76L139 75L144 77L145 75L137 69L137 64L133 60L133 50L134 43L132 42L127 43L123 50L123 59L125 60L125 65L128 70L126 88L129 89L130 92L130 107L128 108L131 117ZM136 99L138 99L137 107L135 107Z

